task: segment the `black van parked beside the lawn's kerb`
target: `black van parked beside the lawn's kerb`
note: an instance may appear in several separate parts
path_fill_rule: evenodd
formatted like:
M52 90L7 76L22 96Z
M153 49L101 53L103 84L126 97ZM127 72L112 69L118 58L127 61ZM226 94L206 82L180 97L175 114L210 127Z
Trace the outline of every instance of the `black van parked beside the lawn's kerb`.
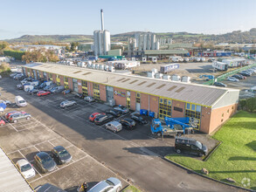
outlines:
M181 152L187 152L190 154L204 156L208 152L207 147L204 146L201 142L186 137L175 138L175 149L177 154L180 154Z

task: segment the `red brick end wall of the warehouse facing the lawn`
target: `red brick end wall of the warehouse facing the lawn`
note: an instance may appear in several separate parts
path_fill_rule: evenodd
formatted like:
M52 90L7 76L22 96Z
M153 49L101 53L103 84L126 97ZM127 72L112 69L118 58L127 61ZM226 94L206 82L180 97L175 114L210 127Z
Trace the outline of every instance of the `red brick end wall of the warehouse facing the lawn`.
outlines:
M208 134L211 134L211 132L225 123L225 121L230 117L232 117L232 115L237 112L237 107L238 104L233 104L231 106L224 106L211 110L211 120Z

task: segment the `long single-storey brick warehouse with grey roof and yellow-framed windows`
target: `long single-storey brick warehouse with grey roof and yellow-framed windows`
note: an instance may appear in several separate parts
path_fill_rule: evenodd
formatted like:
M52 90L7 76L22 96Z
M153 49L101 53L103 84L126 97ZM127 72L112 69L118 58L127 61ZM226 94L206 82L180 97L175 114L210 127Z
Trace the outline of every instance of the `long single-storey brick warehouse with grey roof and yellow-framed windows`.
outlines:
M155 117L193 117L197 130L211 134L236 113L239 90L186 84L163 79L103 72L67 65L33 63L23 66L26 76L51 79L77 93L105 102L147 109Z

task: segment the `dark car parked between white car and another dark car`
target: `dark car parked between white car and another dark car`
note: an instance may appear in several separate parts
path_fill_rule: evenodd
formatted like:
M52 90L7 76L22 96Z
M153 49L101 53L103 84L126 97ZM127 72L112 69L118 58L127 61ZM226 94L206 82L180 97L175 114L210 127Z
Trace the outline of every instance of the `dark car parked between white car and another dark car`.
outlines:
M40 168L43 173L53 171L57 168L56 162L53 161L52 157L45 152L39 152L36 154L34 156L34 160L38 168Z

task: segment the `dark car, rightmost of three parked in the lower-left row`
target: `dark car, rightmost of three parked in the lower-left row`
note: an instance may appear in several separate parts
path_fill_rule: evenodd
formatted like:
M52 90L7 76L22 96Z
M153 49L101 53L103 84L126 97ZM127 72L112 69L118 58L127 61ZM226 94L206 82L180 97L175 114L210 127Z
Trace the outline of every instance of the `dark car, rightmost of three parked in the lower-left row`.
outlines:
M53 147L51 156L58 164L64 164L72 160L72 155L62 146Z

